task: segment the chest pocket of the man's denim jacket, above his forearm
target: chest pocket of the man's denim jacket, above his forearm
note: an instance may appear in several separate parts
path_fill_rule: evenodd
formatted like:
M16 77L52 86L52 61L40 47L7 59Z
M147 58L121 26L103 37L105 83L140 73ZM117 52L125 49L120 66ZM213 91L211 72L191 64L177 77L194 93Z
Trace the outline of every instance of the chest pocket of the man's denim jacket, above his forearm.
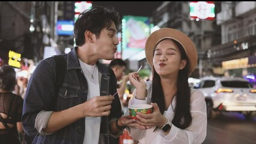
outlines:
M59 88L57 110L69 109L76 106L79 95L79 87L65 85Z

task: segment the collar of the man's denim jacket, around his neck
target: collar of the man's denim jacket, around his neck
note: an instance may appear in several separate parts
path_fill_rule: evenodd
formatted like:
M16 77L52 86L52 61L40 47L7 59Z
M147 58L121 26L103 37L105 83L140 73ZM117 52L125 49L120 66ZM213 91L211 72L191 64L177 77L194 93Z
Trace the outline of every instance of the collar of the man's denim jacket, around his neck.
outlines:
M75 48L67 54L67 70L70 70L73 68L81 69L77 52L78 52L78 46L75 46ZM105 69L104 69L104 67L106 67L106 65L101 64L99 61L97 61L96 64L97 64L97 67L98 67L98 70L100 73L109 75L109 73L107 71L105 71Z

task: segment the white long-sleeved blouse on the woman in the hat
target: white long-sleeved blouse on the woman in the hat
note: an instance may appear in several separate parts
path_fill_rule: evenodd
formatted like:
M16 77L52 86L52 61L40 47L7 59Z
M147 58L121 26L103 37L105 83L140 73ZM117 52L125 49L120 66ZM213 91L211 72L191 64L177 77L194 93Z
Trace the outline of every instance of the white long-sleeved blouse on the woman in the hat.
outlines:
M151 100L151 90L152 90L152 82L147 82L147 97L145 100L138 100L135 98L136 89L133 92L133 97L129 100L129 106L132 104L150 104ZM175 109L175 98L172 100L172 106L168 107L163 115L165 118L172 121L174 118L174 109ZM135 140L139 140L139 144L199 144L203 143L204 139L206 139L206 130L207 130L207 114L206 114L206 101L204 100L204 95L201 91L197 89L192 89L191 97L190 97L190 113L192 116L192 124L184 130L181 130L175 125L172 124L171 130L169 134L165 136L162 130L157 129L156 132L152 127L148 130L139 130L137 128L129 127L127 128L130 136ZM126 115L129 115L129 110L127 110Z

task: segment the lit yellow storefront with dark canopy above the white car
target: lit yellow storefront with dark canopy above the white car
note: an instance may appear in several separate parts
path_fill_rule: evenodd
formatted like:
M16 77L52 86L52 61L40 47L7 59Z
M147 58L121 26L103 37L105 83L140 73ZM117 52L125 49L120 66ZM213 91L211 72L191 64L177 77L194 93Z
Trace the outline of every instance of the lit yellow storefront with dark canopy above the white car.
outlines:
M256 74L256 36L248 36L213 47L207 52L213 69L222 68L224 76Z

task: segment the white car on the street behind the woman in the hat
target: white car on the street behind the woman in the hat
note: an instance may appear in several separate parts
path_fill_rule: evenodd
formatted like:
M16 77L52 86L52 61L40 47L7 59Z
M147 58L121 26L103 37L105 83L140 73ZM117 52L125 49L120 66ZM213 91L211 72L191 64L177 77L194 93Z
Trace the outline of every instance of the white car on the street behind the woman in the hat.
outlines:
M241 112L246 119L256 112L256 89L242 77L203 77L197 89L204 94L207 118L212 110Z

